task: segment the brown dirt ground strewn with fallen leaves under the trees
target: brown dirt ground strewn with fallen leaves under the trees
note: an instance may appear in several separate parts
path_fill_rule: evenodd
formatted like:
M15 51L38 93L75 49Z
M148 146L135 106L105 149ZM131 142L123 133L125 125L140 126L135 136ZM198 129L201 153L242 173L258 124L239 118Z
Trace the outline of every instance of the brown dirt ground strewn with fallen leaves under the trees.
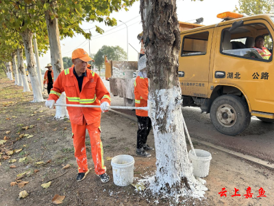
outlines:
M113 179L101 183L94 172L88 135L86 146L91 171L84 181L78 183L75 180L77 164L69 119L54 119L55 111L46 108L45 102L29 103L33 99L32 93L22 91L23 87L14 86L8 78L0 79L0 142L7 140L0 145L0 205L53 205L51 200L55 194L65 196L62 205L274 205L273 171L200 144L195 144L195 148L212 154L210 172L204 178L208 187L205 198L181 199L175 203L172 198L153 196L147 190L137 192L132 185L116 186ZM47 99L45 92L44 98ZM25 130L25 126L29 128ZM107 159L116 155L134 157L135 181L154 174L155 151L148 159L135 155L137 127L135 121L112 111L102 114L101 140L111 178L111 161ZM153 146L152 133L148 144ZM12 159L16 162L9 163ZM41 161L43 163L39 163ZM67 164L71 166L62 169ZM18 180L18 174L24 172L23 179ZM11 186L16 178L17 185ZM20 181L28 183L19 187ZM47 189L41 187L49 181L51 185ZM227 196L221 197L219 192L224 187ZM234 187L240 196L232 196ZM244 196L247 187L251 187L252 198ZM261 187L266 197L258 198ZM18 199L23 190L29 195Z

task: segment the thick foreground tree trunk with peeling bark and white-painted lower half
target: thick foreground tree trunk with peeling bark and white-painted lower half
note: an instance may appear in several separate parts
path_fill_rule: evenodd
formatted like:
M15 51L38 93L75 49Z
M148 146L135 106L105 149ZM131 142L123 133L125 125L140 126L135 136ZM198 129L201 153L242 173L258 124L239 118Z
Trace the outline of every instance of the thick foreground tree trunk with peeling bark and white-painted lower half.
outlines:
M175 198L197 194L199 183L192 174L182 124L181 88L178 78L180 45L175 0L141 0L140 12L147 56L149 101L155 104L151 122L155 139L154 192Z

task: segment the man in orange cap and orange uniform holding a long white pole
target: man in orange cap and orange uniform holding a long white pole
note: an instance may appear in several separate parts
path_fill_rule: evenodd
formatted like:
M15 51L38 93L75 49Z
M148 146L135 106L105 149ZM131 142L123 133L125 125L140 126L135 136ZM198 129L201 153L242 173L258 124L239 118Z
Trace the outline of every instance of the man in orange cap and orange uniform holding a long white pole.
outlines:
M78 164L77 181L86 178L89 172L85 137L86 129L90 135L92 159L95 164L95 173L101 181L110 181L105 172L103 162L103 145L100 138L101 111L108 111L110 107L110 93L97 73L87 69L88 61L92 60L84 49L75 49L72 54L74 67L64 69L55 80L49 94L46 106L53 108L62 92L66 93L66 104L100 105L100 108L67 107L73 132L73 146Z

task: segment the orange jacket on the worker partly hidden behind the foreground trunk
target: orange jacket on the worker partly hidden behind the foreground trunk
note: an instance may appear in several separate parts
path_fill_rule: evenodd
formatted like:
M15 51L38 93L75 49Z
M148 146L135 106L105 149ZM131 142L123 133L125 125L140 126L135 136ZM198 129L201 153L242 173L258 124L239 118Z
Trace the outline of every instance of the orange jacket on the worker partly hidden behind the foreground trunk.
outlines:
M149 80L147 78L137 76L134 82L134 96L136 107L147 106L147 99L149 98ZM136 115L148 117L148 111L136 109Z

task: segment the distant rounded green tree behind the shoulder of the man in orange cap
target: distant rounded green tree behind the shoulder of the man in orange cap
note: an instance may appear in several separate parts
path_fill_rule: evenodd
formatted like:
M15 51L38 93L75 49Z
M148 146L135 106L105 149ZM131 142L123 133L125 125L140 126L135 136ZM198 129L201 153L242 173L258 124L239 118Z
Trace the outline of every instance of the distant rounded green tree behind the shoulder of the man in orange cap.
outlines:
M101 49L94 56L95 65L100 69L105 62L105 55L108 56L108 59L123 61L127 59L127 53L125 50L119 46L110 47L103 45Z

